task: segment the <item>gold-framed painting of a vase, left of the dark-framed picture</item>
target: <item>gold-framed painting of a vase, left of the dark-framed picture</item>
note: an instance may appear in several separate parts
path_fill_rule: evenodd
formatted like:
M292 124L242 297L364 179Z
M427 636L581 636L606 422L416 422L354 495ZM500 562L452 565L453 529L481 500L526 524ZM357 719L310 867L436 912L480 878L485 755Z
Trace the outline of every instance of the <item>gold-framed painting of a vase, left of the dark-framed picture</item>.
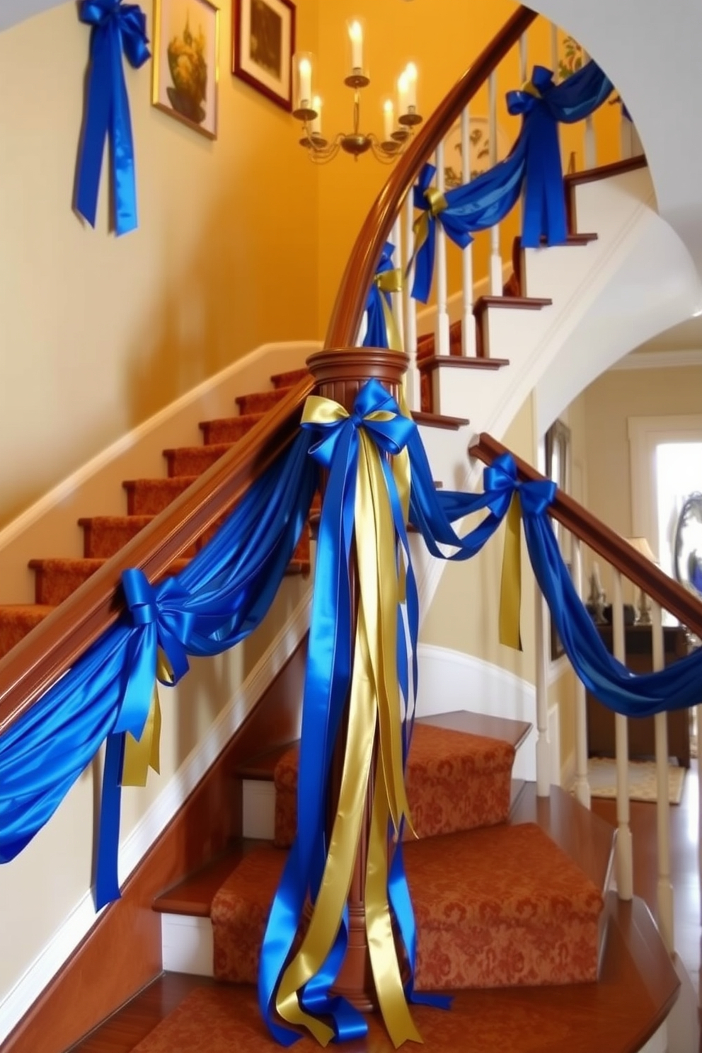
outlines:
M210 0L155 0L155 106L217 138L219 8Z

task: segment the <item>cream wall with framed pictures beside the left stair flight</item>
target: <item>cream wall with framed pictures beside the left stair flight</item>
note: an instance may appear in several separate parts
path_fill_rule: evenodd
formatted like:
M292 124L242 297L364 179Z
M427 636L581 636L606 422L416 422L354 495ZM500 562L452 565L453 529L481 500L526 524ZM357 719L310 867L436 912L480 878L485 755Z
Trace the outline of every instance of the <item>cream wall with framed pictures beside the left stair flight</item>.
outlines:
M149 17L152 4L143 5ZM319 0L298 0L317 46ZM318 174L292 118L229 72L219 138L151 104L126 66L139 230L72 212L88 29L63 3L0 35L0 525L91 456L254 347L317 336Z

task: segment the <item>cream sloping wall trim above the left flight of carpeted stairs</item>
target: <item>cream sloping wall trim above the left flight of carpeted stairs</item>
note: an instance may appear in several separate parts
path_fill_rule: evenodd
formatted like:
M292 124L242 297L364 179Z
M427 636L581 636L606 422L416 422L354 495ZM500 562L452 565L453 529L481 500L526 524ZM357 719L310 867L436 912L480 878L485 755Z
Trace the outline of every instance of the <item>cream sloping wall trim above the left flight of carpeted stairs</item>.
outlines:
M319 341L314 340L264 343L260 347L256 347L248 355L244 355L243 358L237 359L236 362L227 365L224 370L220 370L213 377L203 380L197 388L193 388L185 395L176 399L175 402L171 402L169 405L154 414L148 420L143 421L143 423L134 428L131 432L120 436L109 446L102 450L85 464L82 464L76 472L67 476L54 486L53 490L49 490L48 493L44 494L38 501L35 501L34 504L22 512L17 519L14 519L4 530L0 531L0 550L15 541L24 531L34 526L36 522L52 512L57 505L68 500L89 479L104 471L118 457L121 457L140 442L143 442L152 433L178 417L188 406L195 405L200 401L204 403L208 395L217 391L222 384L230 381L237 374L243 373L245 370L255 369L259 362L265 360L273 353L280 353L282 351L285 355L289 354L292 361L297 362L297 356L301 351L308 350L312 353L321 346L322 344Z

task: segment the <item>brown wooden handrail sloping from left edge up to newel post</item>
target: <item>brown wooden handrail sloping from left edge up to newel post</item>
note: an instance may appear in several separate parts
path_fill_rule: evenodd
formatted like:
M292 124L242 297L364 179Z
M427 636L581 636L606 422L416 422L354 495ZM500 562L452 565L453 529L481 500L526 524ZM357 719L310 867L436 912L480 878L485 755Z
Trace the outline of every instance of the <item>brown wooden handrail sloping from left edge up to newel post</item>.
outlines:
M0 734L14 723L123 610L122 571L161 578L180 553L243 497L297 434L315 382L300 381L153 522L0 659Z

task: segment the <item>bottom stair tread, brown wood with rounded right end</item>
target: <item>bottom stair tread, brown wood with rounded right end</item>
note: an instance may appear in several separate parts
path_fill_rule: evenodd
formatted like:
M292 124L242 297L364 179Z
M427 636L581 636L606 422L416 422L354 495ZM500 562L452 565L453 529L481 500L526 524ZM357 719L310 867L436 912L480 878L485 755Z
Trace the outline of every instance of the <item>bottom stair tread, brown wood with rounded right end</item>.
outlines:
M669 1012L679 980L641 899L624 902L609 893L604 917L607 940L598 984L574 984L557 993L549 987L458 991L448 1012L413 1007L424 1049L427 1053L462 1050L466 1035L470 1036L472 1053L600 1053L603 1049L633 1053L641 1049ZM197 1006L192 1022L193 998L186 999L186 995L192 995ZM179 1008L174 1008L176 1005ZM237 1048L246 1044L247 1050L257 1053L275 1053L280 1048L262 1030L254 987L165 973L83 1039L74 1053L102 1053L107 1036L121 1036L129 1026L141 1029L137 1040L151 1032L139 1053L187 1053L193 1048L187 1045L187 1035L201 1038L205 1019L215 1032L228 1035L229 1044ZM239 1031L242 1021L245 1035ZM354 1049L358 1053L394 1053L380 1016L372 1014L368 1025L367 1039L355 1044ZM185 1045L178 1044L181 1036ZM134 1040L123 1040L115 1051L127 1053L133 1047ZM228 1047L209 1048L213 1053L222 1053Z

